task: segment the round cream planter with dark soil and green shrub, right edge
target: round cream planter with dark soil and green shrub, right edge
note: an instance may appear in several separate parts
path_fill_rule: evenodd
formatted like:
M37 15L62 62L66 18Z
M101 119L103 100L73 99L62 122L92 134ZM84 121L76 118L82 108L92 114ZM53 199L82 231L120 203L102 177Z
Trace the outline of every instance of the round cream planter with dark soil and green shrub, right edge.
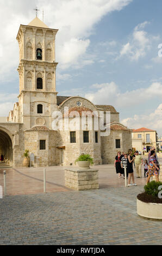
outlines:
M144 190L136 199L138 215L149 220L162 221L162 182L153 180L145 185Z

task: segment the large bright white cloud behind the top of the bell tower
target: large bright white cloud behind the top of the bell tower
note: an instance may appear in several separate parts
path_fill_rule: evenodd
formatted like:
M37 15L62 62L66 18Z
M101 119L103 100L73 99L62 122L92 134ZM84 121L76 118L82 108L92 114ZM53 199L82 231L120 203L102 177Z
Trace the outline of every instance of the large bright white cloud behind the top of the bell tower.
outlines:
M90 45L88 36L94 33L94 25L111 11L121 10L132 0L28 0L0 1L1 56L0 81L17 77L18 43L16 35L20 24L27 25L34 19L35 6L44 9L45 23L58 28L56 53L59 68L66 69L85 60L93 62L86 51ZM42 11L42 9L41 9ZM42 14L39 13L42 19ZM82 66L81 65L81 66Z

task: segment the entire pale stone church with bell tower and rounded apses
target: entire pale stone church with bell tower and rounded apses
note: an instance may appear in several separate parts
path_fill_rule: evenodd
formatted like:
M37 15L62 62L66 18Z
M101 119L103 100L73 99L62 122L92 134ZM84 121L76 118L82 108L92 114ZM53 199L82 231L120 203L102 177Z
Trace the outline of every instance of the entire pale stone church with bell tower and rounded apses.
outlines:
M38 17L20 25L20 90L7 122L0 123L0 151L14 167L22 166L25 150L34 154L35 167L72 165L83 153L90 154L95 164L113 163L118 150L132 148L132 131L120 124L113 106L58 96L57 32Z

